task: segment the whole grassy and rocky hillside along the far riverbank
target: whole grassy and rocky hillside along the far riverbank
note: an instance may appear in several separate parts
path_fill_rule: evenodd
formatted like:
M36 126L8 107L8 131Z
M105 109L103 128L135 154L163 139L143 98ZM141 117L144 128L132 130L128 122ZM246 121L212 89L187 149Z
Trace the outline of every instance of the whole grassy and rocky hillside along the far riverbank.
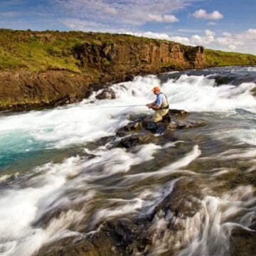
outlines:
M134 75L220 65L256 65L256 56L126 34L0 29L0 110L76 102L93 85Z

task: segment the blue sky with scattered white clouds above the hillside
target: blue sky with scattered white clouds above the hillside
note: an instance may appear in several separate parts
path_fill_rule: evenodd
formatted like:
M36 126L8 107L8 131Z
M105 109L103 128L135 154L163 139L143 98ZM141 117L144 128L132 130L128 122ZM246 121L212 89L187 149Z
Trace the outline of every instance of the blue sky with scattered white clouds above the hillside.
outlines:
M256 0L0 0L0 27L102 31L256 55Z

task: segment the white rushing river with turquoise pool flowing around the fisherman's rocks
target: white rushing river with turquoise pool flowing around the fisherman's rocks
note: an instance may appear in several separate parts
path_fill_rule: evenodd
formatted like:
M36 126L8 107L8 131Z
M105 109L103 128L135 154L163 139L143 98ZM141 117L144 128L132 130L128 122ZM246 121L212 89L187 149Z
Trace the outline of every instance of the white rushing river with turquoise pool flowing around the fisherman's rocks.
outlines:
M114 100L96 100L94 92L54 109L1 112L0 255L36 255L109 220L143 220L181 181L176 203L191 198L186 203L200 209L185 218L173 204L140 223L150 242L133 255L235 255L235 246L240 255L255 252L244 246L255 244L255 82L254 67L186 70L112 85ZM132 149L96 143L132 117L152 114L139 105L154 100L156 85L171 109L206 126ZM127 105L138 106L120 107Z

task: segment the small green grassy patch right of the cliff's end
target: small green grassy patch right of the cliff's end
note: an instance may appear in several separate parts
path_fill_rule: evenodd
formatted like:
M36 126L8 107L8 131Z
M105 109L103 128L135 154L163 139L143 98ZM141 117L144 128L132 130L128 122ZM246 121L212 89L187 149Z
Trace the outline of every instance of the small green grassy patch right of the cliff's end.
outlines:
M205 50L209 65L222 67L228 65L256 65L256 56L245 53L230 53L221 50Z

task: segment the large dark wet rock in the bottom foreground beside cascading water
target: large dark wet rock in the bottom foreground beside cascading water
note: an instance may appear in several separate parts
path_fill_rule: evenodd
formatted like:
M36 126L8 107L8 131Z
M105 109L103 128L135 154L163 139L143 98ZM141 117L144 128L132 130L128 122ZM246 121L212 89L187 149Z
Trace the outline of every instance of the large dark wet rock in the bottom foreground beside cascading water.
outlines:
M161 232L168 232L173 242L181 239L182 230L186 228L183 220L201 209L200 191L196 182L183 178L153 212L138 218L112 218L101 223L94 233L55 241L41 248L37 255L148 255L155 235L161 236ZM166 223L164 230L154 229L159 218Z

